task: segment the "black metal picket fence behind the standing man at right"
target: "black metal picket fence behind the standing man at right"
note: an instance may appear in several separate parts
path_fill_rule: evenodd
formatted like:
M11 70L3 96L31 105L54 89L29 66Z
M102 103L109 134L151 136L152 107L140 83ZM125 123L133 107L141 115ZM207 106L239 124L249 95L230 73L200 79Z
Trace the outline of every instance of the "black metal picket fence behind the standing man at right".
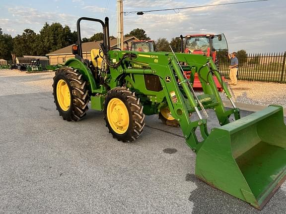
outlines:
M263 53L238 56L237 79L286 83L286 52ZM218 55L219 71L229 78L230 60L223 54Z

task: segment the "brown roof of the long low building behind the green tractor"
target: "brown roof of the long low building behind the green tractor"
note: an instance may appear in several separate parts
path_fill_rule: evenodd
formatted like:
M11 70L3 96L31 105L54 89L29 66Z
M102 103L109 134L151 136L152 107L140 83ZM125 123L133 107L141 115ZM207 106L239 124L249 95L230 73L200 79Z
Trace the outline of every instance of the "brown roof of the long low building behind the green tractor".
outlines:
M128 40L138 40L135 36L132 37L124 37L123 42L126 42ZM86 43L82 43L81 47L82 47L82 52L83 53L88 53L91 51L91 49L99 49L99 44L103 43L103 40L101 41L96 41L96 42L86 42ZM74 44L73 44L74 45ZM73 45L67 46L65 48L59 49L57 51L51 52L49 54L46 55L61 55L61 54L72 54L71 53L71 47ZM112 39L110 40L110 48L114 48L117 46L117 39Z

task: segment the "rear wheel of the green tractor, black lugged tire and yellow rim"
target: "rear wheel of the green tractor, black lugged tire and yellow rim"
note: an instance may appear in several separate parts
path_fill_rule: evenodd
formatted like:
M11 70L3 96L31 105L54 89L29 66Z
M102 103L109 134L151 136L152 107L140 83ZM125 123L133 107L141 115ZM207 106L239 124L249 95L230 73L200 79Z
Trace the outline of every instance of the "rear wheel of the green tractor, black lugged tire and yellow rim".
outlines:
M88 110L86 81L77 69L61 67L56 71L53 83L54 102L64 120L81 120Z

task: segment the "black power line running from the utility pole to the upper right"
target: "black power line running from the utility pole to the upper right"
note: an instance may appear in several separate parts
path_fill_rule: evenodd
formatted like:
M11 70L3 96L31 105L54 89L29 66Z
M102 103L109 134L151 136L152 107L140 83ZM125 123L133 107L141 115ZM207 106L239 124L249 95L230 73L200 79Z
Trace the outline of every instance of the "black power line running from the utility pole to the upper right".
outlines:
M240 3L251 3L251 2L259 2L259 1L268 1L268 0L250 0L250 1L239 1L239 2L232 2L232 3L220 3L220 4L210 4L210 5L200 5L200 6L190 6L190 7L178 7L178 8L169 8L169 9L156 9L156 10L125 11L123 13L125 16L129 15L130 13L137 13L137 15L143 15L144 13L155 12L155 11L167 11L167 10L174 10L175 11L175 10L180 10L180 9L193 9L193 8L200 8L200 7L211 7L211 6L240 4ZM176 12L176 13L178 13L178 12Z

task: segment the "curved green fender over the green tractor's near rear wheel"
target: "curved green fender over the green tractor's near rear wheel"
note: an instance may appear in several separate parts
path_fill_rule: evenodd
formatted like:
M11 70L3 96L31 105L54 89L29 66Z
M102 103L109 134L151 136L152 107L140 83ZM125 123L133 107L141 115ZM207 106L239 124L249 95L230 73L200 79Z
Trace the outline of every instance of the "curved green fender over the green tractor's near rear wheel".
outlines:
M91 93L95 93L96 91L96 83L93 78L91 71L83 64L80 60L76 58L71 58L65 63L66 66L72 67L74 69L78 69L78 71L83 75L84 79L88 81L87 87Z

